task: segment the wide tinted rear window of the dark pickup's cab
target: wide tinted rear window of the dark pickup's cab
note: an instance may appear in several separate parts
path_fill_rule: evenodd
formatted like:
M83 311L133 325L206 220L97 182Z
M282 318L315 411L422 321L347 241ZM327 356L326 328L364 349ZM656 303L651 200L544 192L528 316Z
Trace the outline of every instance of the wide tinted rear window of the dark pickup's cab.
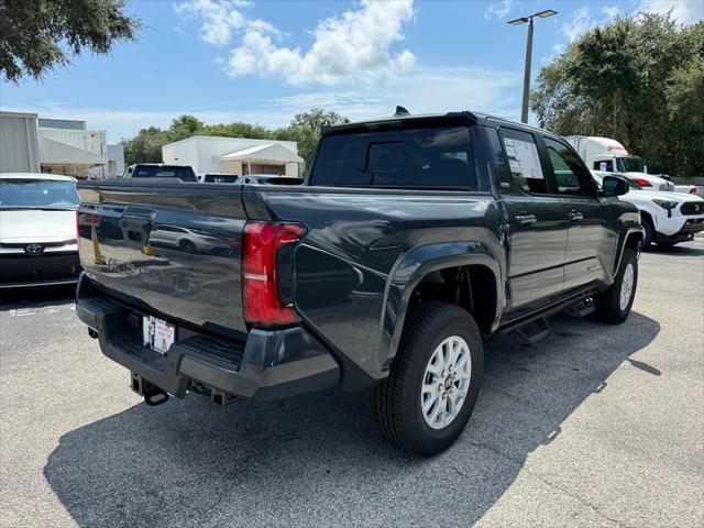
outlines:
M479 190L470 129L452 125L324 136L310 185Z

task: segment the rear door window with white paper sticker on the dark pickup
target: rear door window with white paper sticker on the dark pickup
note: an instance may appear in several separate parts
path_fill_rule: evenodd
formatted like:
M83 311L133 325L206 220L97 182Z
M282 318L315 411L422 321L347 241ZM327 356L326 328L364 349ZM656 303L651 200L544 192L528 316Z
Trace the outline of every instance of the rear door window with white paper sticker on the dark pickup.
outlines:
M547 194L548 186L540 166L538 146L532 135L517 130L502 130L502 141L508 157L510 180L502 182L504 189Z

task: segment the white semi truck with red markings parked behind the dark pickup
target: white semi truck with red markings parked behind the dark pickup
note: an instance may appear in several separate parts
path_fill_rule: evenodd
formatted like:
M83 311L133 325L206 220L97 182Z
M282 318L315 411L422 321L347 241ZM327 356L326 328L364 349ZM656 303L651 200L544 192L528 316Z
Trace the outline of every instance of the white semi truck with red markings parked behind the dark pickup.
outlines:
M648 174L642 158L629 154L616 140L587 135L568 135L564 139L592 170L618 173L650 190L674 190L672 182Z

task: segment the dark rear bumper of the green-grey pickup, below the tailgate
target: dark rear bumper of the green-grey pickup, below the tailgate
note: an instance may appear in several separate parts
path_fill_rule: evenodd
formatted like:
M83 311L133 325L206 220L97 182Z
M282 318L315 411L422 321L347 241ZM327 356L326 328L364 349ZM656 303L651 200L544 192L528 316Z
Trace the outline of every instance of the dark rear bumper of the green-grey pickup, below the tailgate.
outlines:
M276 398L339 385L340 367L330 352L302 327L251 330L234 342L178 327L166 355L142 344L142 312L109 296L91 295L81 275L78 318L98 333L105 355L134 375L183 398L188 391ZM132 317L131 317L132 316ZM136 316L136 317L135 317Z

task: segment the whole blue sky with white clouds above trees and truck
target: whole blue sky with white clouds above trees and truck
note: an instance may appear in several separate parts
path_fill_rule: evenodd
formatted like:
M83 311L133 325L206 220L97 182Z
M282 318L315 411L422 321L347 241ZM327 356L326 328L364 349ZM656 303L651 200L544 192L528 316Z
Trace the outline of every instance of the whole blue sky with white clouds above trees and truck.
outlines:
M581 32L617 13L701 20L704 1L134 0L144 28L107 57L84 55L42 81L0 82L2 110L82 119L109 141L180 113L205 122L288 123L311 107L352 119L473 109L520 114L526 25L534 75Z

